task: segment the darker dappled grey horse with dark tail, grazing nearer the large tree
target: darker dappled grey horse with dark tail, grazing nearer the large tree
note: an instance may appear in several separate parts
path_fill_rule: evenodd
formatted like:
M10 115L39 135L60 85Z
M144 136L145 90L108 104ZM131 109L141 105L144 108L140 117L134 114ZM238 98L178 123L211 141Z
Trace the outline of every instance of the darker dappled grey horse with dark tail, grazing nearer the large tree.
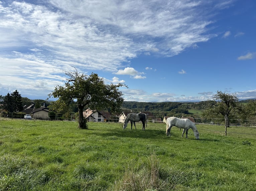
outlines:
M132 129L132 123L135 126L135 122L141 121L142 122L142 130L145 130L145 124L147 124L147 115L145 113L139 112L139 113L129 113L124 121L123 129L127 127L128 122L131 121L131 129Z

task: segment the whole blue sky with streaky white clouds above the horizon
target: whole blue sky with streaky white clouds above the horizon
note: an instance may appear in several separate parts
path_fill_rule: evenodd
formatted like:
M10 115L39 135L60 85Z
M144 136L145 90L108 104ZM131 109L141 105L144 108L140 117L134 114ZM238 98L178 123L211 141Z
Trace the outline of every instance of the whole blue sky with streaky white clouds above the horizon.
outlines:
M125 101L256 97L254 0L0 0L0 95L46 99L63 70Z

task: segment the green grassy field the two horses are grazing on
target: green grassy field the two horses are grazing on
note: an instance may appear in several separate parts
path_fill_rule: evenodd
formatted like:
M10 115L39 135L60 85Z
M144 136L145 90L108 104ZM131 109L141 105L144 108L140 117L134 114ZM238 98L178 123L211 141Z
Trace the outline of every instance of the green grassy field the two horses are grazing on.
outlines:
M256 190L256 129L0 118L0 191Z

